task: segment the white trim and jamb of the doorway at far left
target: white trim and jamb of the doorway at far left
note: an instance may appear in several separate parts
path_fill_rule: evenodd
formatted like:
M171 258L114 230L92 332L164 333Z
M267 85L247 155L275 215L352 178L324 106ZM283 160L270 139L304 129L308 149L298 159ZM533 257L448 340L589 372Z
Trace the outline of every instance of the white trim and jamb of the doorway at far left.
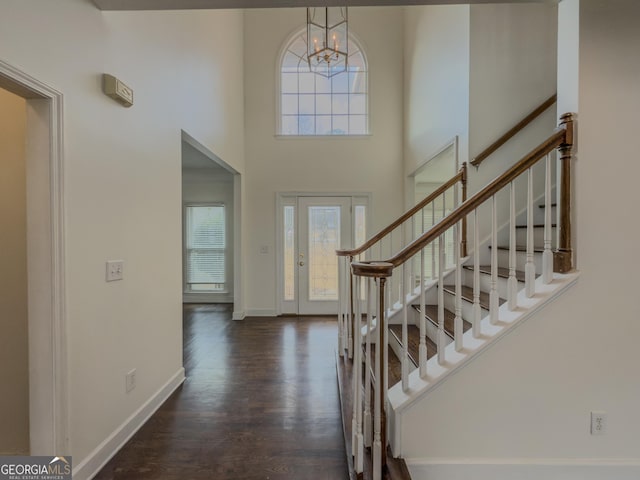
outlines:
M69 455L63 95L0 60L0 86L27 99L31 455Z

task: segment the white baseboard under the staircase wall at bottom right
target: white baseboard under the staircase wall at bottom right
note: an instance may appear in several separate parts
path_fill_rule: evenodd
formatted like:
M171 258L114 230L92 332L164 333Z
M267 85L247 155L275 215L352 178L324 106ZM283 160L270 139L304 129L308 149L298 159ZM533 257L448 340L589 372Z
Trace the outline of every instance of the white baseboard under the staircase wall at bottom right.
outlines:
M406 459L412 480L637 480L640 459Z

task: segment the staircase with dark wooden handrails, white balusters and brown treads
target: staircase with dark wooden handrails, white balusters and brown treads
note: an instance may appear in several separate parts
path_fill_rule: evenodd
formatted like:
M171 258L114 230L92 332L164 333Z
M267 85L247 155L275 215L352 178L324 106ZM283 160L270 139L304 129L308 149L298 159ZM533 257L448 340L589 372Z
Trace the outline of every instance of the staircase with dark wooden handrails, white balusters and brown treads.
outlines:
M464 166L363 246L337 252L338 363L351 375L343 420L350 427L346 441L354 477L410 478L394 458L402 457L403 431L412 427L408 412L428 408L431 389L576 281L572 147L573 116L563 115L553 135L471 198ZM556 148L559 169L552 159ZM534 182L534 168L544 172L543 182ZM519 178L526 179L526 195L520 197ZM416 228L424 210L452 188L462 193L458 206L436 225ZM455 248L448 258L445 243L451 238ZM428 265L436 266L429 274Z

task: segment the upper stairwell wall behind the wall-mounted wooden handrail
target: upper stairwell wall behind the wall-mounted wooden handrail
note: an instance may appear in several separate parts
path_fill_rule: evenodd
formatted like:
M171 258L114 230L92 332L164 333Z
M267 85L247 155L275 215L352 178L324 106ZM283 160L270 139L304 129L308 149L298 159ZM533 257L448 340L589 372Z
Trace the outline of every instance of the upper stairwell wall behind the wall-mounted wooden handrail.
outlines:
M469 159L556 92L557 6L472 5ZM557 126L550 108L469 178L471 193L546 139Z

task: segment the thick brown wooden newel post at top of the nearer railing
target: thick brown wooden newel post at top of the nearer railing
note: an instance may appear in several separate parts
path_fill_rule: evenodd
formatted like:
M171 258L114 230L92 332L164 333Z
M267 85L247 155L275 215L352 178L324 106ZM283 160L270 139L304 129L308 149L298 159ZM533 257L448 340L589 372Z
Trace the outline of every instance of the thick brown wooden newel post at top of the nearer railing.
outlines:
M560 187L558 249L553 252L553 271L567 273L573 270L573 248L571 245L571 162L575 137L575 113L565 113L560 117L560 127L565 130L565 139L558 147L560 152Z

